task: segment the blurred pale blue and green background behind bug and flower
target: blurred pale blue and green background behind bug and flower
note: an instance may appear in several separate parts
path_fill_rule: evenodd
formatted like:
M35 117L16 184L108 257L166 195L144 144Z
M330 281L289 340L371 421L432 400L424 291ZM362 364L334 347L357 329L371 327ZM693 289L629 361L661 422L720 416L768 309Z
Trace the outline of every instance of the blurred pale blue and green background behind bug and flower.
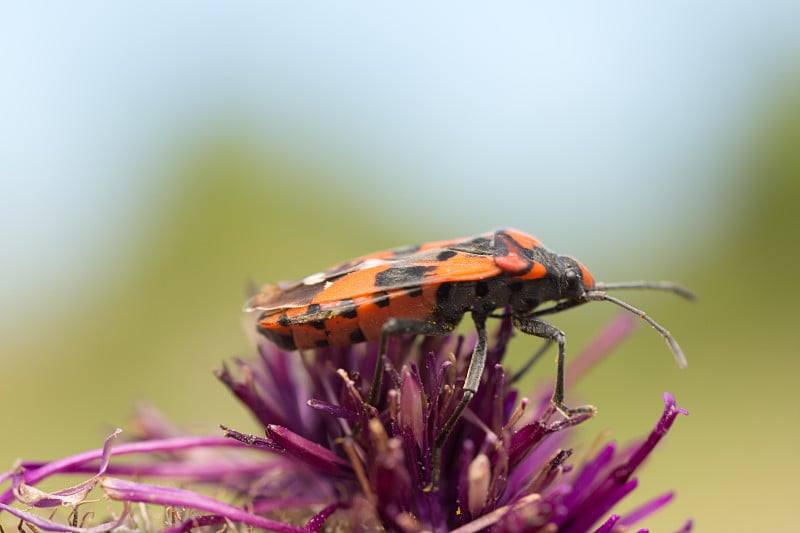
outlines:
M691 411L637 491L678 491L653 530L790 530L800 3L706 4L3 4L0 470L143 400L258 432L211 374L251 352L246 287L514 226L699 295L625 295L687 370L642 325L568 392L587 438ZM553 321L575 353L616 312Z

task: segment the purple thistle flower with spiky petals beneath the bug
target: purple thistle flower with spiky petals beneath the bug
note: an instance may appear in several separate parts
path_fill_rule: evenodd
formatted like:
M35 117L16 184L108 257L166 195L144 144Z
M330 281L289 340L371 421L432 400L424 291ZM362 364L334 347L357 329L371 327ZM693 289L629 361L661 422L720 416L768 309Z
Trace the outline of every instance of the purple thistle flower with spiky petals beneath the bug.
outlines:
M570 379L616 345L633 320L616 319L575 359ZM255 360L235 360L217 372L264 436L223 427L221 436L192 437L157 412L142 412L139 441L113 444L115 432L101 450L21 463L1 475L0 484L10 488L0 493L0 512L49 531L211 531L241 524L279 532L608 533L629 530L665 506L673 493L614 514L636 488L636 469L686 411L665 394L663 413L645 439L622 449L609 443L578 459L569 429L591 415L565 419L547 390L520 398L516 376L502 365L511 335L510 322L501 322L480 389L441 458L434 442L460 398L474 339L392 339L376 405L365 398L377 344L301 355L264 342ZM124 455L139 458L117 460ZM93 475L56 492L34 486L56 474ZM94 507L103 511L85 513L96 487L104 498ZM115 501L121 510L110 505ZM66 519L34 512L58 506L71 509ZM110 518L94 518L99 512ZM687 522L680 531L690 529Z

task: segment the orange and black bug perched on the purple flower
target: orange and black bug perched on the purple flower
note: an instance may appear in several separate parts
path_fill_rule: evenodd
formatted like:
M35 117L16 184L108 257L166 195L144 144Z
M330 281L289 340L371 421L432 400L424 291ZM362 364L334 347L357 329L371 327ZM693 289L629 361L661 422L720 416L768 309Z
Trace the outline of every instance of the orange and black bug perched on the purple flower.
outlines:
M486 320L506 309L516 329L558 345L552 403L564 416L594 412L564 404L566 337L543 315L593 301L614 303L647 321L667 341L681 367L683 352L672 335L614 289L657 289L691 298L669 282L600 283L577 260L547 250L535 237L501 229L474 237L377 252L292 283L268 285L247 302L259 313L258 330L286 350L380 341L369 402L380 392L387 340L393 335L445 335L470 313L478 339L463 394L441 428L441 448L475 395L486 362ZM549 305L549 306L548 306Z

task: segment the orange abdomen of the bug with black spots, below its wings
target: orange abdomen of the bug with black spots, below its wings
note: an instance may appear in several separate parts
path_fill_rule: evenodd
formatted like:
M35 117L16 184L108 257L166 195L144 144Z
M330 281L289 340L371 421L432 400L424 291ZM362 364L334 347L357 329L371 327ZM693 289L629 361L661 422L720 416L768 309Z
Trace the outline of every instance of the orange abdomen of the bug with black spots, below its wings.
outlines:
M381 338L390 318L427 321L436 314L433 288L381 291L262 315L258 329L284 350L350 346Z

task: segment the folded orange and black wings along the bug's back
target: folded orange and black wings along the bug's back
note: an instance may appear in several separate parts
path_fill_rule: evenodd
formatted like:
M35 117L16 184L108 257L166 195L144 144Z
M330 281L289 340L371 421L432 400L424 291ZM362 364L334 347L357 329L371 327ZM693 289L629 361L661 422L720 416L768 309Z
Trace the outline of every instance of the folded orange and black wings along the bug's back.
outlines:
M281 285L268 285L246 305L266 313L361 299L373 294L445 282L474 281L501 272L494 262L491 241L458 239L397 248L365 255L325 272Z

